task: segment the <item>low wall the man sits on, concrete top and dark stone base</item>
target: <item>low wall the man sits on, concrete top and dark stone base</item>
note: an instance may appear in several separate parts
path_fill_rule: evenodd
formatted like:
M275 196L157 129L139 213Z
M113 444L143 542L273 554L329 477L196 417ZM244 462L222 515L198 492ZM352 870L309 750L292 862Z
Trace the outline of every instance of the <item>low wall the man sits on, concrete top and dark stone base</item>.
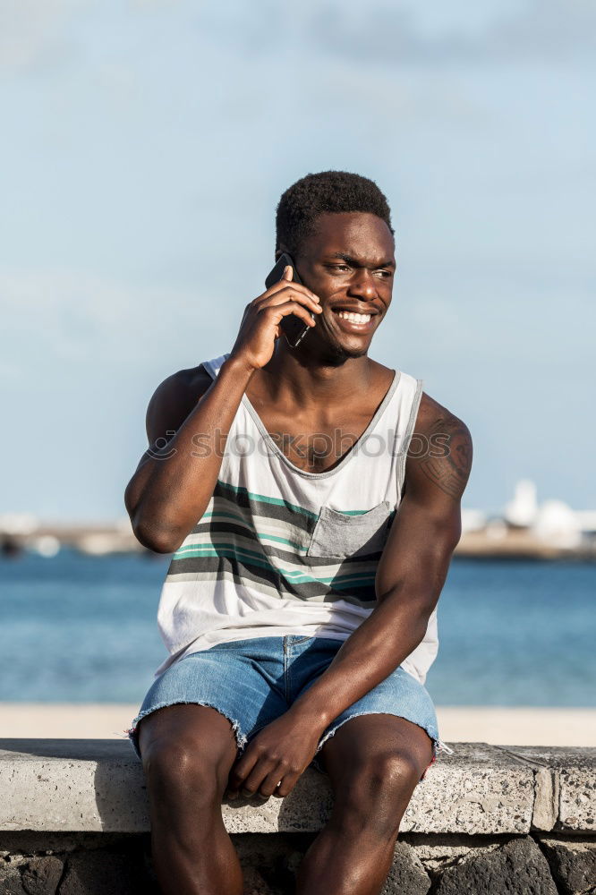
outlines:
M451 746L414 792L386 895L594 895L596 749ZM245 892L294 891L331 805L310 769L285 799L223 805ZM0 741L0 893L23 892L158 892L128 742Z

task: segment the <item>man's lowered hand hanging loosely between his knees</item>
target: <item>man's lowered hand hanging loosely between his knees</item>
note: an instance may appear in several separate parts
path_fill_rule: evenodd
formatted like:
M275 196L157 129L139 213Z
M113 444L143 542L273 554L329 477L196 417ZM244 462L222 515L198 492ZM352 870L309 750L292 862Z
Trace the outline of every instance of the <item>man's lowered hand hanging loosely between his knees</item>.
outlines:
M230 799L239 794L251 797L255 793L264 798L287 796L317 751L322 730L314 728L315 725L297 720L290 712L271 721L251 739L234 763L226 796Z

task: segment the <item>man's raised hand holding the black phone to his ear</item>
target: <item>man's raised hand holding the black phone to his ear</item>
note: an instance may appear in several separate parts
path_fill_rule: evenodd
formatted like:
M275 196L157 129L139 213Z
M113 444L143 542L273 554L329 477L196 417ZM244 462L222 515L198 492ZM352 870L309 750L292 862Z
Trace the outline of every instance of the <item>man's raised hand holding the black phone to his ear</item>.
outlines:
M315 326L309 311L321 312L319 296L293 283L293 268L288 264L278 283L246 305L240 331L230 356L241 359L250 370L259 370L271 360L283 317L295 314L309 326Z

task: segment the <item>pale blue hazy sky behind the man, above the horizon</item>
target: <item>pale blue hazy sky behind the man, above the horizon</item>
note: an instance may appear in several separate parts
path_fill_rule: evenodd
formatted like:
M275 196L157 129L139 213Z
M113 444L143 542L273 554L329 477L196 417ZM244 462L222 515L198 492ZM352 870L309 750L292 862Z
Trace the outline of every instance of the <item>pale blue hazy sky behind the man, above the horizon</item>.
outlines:
M125 515L145 412L225 354L279 196L370 177L370 356L472 431L464 507L596 507L596 7L0 0L0 513Z

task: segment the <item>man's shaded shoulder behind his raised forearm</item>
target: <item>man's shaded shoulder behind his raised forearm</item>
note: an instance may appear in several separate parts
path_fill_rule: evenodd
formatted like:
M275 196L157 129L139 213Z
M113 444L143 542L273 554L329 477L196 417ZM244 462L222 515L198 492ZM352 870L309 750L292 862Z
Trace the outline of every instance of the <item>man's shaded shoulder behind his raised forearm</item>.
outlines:
M163 379L149 399L146 415L149 444L173 435L213 380L202 364L178 370ZM171 438L171 435L169 436Z

